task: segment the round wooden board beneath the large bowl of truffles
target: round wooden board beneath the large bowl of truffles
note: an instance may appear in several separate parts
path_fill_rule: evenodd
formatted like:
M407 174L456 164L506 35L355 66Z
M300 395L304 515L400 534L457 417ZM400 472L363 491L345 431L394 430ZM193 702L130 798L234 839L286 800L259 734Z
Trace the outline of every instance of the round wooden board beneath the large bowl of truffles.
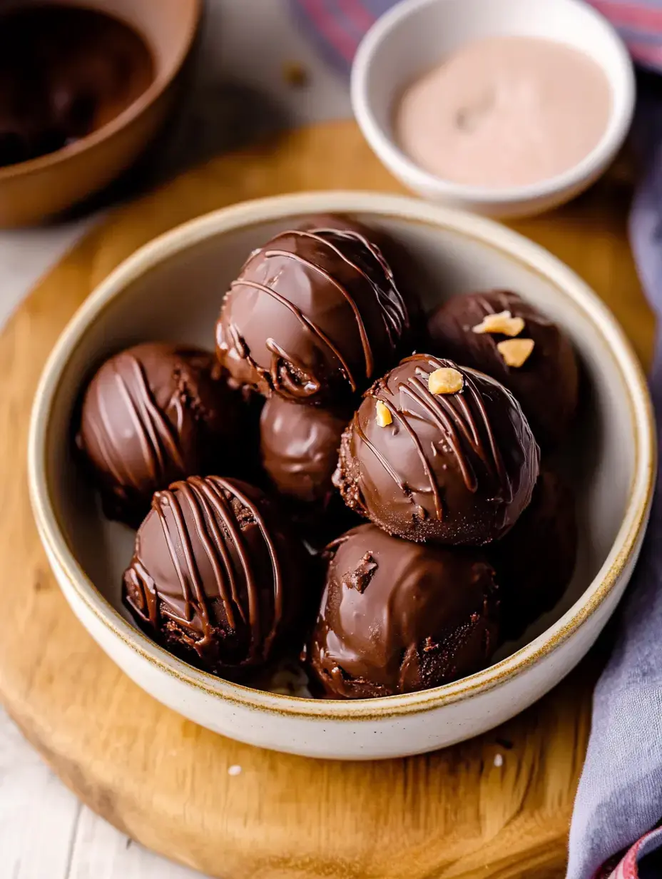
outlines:
M444 752L362 764L287 757L215 736L142 693L71 614L40 547L25 479L30 405L47 353L92 287L196 214L339 187L400 191L351 122L219 157L120 207L12 317L0 338L0 698L92 809L209 875L560 876L599 656L511 723ZM517 228L604 296L647 361L653 323L625 241L628 198L615 173ZM229 766L242 771L230 775Z

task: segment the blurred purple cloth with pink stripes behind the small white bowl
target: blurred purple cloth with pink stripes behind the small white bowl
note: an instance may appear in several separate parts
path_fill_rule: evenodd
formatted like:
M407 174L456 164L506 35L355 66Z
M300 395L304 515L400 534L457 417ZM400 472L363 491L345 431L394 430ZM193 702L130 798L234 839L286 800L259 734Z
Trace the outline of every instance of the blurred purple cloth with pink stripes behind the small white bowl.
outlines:
M622 34L635 60L662 69L662 0L589 0ZM361 37L395 0L292 0L324 54L348 69Z

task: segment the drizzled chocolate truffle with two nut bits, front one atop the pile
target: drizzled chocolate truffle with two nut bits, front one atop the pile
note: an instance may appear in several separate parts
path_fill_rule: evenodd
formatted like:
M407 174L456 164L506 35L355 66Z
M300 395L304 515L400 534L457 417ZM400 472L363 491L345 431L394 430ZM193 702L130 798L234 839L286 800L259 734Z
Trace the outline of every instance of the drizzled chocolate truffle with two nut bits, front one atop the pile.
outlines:
M333 478L346 504L389 534L477 546L517 521L539 454L498 381L416 354L367 391Z

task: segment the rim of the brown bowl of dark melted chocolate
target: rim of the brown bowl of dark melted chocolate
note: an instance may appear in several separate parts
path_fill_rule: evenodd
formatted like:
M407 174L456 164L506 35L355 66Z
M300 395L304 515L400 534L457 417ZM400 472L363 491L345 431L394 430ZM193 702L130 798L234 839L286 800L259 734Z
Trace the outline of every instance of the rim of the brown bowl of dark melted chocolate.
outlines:
M69 143L68 146L55 149L55 152L46 153L44 156L36 156L33 159L28 159L26 162L4 165L4 167L0 168L0 184L4 183L5 180L24 177L33 171L43 171L45 169L53 168L68 161L74 156L78 156L80 153L83 153L88 149L98 146L99 143L108 140L110 137L113 137L113 134L117 134L123 128L126 128L139 116L142 116L142 113L148 110L151 105L155 104L158 98L164 94L164 91L171 84L175 76L178 75L179 70L182 68L186 60L186 56L193 46L193 40L200 27L203 0L187 0L187 2L190 4L192 12L190 26L187 31L183 33L183 39L181 40L178 52L174 56L170 69L165 73L157 74L147 89L142 91L142 93L138 95L131 104L125 107L121 113L118 113L117 116L106 122L105 125L91 131L90 134L85 134L84 137L79 138L73 143ZM69 0L69 5L88 8L85 7L83 3L73 2L73 0ZM116 15L114 12L105 12L105 14L109 15L111 18L118 19L122 24L126 24L131 27L132 30L136 31L142 40L147 43L151 52L149 35L147 33L144 33L142 29L139 30L135 25L128 22L120 15Z

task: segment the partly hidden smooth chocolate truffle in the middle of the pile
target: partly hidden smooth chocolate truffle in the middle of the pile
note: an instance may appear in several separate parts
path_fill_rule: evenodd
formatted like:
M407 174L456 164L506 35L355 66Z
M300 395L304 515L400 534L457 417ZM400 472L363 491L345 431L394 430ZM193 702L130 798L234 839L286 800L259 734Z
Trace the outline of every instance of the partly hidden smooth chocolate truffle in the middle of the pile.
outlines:
M262 466L281 495L323 509L337 494L331 477L340 438L351 412L302 406L280 396L267 400L260 417Z

